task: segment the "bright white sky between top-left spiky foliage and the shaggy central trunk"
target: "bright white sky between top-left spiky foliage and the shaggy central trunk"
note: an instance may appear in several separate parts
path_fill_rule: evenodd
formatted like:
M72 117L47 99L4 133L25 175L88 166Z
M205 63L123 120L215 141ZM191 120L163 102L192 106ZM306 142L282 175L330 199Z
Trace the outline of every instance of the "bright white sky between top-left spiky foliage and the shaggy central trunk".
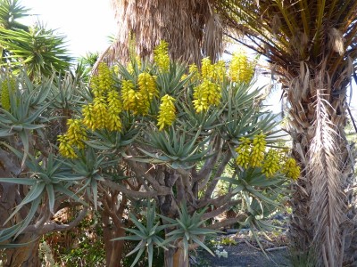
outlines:
M108 36L116 33L110 0L21 0L21 5L34 14L26 22L39 20L67 36L75 57L103 52L109 45Z

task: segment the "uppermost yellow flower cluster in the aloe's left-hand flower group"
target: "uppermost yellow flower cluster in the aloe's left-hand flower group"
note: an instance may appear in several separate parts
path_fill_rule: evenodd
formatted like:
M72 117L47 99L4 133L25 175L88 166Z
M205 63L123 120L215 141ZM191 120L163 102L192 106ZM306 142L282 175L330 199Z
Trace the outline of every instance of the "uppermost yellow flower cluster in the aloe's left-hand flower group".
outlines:
M106 91L112 90L114 85L112 71L104 62L99 63L98 74L92 77L90 85L95 96L101 96Z

